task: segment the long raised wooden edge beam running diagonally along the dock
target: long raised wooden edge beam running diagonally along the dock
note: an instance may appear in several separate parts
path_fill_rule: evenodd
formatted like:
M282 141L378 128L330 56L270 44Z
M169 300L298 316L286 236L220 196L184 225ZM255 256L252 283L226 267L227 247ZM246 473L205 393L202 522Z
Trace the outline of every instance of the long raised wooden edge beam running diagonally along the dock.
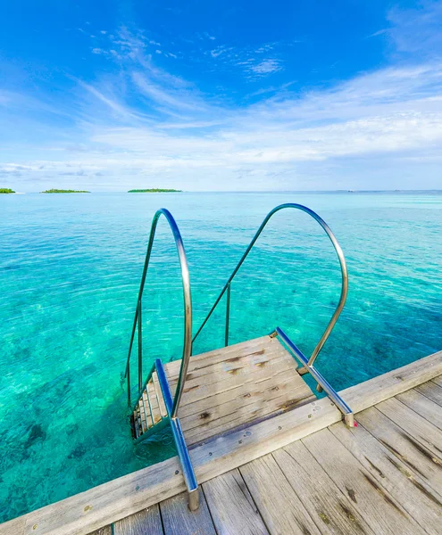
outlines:
M442 374L442 352L361 383L340 395L355 412ZM329 399L309 403L247 430L234 431L191 450L198 481L245 464L340 421ZM370 430L371 431L371 430ZM178 474L175 472L178 470ZM434 485L431 485L433 489ZM87 535L88 532L185 490L177 457L109 481L27 516L26 535ZM92 506L92 508L90 508ZM38 524L33 531L32 525Z

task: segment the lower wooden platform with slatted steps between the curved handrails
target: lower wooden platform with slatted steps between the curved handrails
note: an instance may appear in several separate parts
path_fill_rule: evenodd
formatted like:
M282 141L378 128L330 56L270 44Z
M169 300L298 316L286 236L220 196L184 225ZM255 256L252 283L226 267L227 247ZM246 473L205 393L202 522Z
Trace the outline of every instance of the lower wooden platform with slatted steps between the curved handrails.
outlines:
M181 360L164 365L172 394L180 365ZM288 350L270 336L192 357L179 406L179 421L188 447L315 399L296 368L296 360ZM153 422L167 416L156 373L143 397L145 401L140 400L134 419L138 430L146 432Z

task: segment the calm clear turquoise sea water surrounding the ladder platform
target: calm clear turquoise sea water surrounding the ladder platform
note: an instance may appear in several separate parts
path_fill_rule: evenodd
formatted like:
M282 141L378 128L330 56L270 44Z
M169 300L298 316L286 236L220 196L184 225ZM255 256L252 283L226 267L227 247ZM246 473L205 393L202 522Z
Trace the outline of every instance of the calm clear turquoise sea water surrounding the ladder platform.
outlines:
M346 309L318 360L337 389L442 349L442 195L166 193L0 196L0 521L173 455L134 449L121 386L146 237L169 208L195 327L268 210L299 202L346 254ZM182 294L165 221L144 300L145 360L179 358ZM232 285L231 342L283 327L313 350L338 300L321 228L279 212ZM219 347L224 308L194 352ZM134 372L135 373L135 368Z

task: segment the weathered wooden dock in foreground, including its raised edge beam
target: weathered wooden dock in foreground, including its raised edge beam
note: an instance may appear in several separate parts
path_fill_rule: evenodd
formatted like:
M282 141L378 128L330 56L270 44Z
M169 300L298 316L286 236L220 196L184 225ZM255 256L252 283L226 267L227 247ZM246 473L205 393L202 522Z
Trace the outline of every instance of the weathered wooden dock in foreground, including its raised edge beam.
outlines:
M0 535L442 533L442 352L310 400L190 450L201 506L177 457L0 526Z

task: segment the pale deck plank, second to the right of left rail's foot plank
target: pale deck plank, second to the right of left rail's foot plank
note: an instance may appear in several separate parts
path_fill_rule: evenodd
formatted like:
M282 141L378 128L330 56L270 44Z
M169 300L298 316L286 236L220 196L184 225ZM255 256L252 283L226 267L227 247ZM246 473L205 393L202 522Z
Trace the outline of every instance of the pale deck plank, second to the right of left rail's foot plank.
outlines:
M272 534L321 533L271 455L241 466L239 472Z

